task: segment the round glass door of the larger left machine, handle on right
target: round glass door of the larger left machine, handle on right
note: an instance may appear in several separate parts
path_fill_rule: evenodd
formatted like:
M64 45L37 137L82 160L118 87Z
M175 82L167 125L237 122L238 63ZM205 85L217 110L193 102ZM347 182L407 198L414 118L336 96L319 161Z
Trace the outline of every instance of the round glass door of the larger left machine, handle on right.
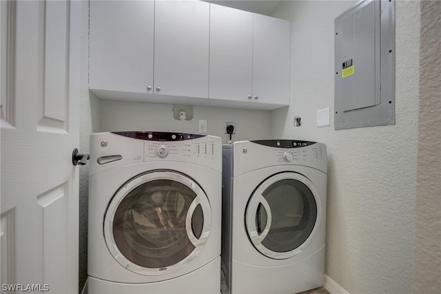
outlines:
M163 275L198 255L211 220L208 198L196 182L175 171L152 171L115 193L105 214L104 237L126 269Z

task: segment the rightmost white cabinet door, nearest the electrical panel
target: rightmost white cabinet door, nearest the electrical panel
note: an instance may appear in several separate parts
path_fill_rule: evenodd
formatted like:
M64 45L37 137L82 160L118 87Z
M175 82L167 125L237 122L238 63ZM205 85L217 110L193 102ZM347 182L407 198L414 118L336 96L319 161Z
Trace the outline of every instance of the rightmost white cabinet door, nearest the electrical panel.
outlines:
M289 104L290 34L289 21L254 14L253 101Z

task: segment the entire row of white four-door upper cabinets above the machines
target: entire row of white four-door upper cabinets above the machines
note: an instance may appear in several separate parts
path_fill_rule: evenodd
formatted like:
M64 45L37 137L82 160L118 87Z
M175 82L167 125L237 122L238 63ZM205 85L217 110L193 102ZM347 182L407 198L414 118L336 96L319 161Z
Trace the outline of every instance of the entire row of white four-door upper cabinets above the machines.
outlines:
M205 1L90 1L90 90L100 98L289 105L290 23Z

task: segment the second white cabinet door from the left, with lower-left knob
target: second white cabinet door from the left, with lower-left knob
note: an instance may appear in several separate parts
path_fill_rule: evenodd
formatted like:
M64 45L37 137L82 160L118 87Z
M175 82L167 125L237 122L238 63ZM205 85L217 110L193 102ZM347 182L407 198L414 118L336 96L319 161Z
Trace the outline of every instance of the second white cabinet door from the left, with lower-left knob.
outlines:
M156 1L154 92L208 97L209 3Z

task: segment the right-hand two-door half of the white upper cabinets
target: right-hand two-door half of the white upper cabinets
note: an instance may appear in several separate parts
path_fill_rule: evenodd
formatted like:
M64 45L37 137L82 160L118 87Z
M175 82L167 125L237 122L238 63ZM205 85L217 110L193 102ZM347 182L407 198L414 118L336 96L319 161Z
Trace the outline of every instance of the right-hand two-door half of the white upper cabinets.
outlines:
M289 21L212 4L209 98L289 105L290 34Z

